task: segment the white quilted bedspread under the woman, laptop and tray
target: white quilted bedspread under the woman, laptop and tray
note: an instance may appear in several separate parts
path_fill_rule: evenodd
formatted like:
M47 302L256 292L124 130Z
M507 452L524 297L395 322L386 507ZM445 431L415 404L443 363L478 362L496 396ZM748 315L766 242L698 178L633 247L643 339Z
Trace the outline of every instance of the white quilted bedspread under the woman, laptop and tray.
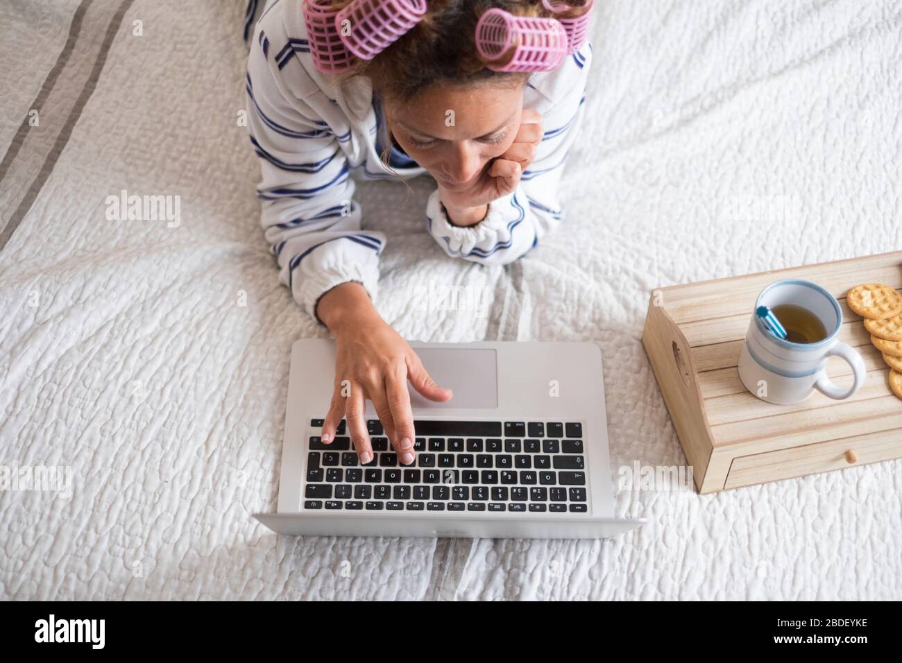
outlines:
M96 0L78 40L99 44L121 2ZM0 465L71 479L70 496L0 492L0 596L902 596L902 461L708 496L615 481L616 515L649 524L603 541L258 524L276 502L290 345L325 330L278 283L258 226L236 122L244 3L126 3L87 92L95 54L78 41L48 98L86 96L76 115L41 108L35 132L74 119L41 174L27 141L9 154L79 4L0 7L0 224L17 224L0 251ZM685 465L640 343L649 292L902 247L900 35L891 0L603 0L563 225L483 268L426 234L428 180L406 204L399 182L365 183L365 225L389 237L383 317L424 341L594 340L612 466ZM179 196L179 226L108 220L122 189ZM493 299L421 310L428 281Z

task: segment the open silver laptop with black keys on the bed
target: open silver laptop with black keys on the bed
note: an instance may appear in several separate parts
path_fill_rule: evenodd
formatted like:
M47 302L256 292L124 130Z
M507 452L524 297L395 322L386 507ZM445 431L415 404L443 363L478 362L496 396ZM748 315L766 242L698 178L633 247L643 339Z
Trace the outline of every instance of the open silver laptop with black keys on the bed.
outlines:
M345 422L320 438L335 342L291 349L279 504L254 517L280 534L600 539L644 520L613 517L602 354L589 343L410 343L454 391L410 388L417 459L400 465L367 401L373 461Z

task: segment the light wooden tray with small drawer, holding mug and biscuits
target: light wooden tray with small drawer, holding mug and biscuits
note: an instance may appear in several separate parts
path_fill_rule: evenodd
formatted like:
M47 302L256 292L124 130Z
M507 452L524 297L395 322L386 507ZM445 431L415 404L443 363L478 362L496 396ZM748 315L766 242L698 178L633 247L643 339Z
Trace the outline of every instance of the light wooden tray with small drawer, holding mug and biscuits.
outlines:
M796 405L773 405L740 381L737 364L755 299L770 282L790 278L815 281L839 299L839 338L861 353L868 369L846 401L815 392ZM867 282L902 289L902 252L651 293L642 344L699 493L902 457L902 401L889 389L889 367L861 317L846 304L846 292ZM841 359L830 359L828 373L851 385Z

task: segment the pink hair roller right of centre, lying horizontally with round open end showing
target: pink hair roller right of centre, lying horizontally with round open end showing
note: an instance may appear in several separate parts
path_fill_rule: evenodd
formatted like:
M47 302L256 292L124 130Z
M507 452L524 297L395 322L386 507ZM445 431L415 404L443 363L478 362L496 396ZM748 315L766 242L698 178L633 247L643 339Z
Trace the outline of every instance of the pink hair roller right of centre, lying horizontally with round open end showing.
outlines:
M476 23L476 51L493 71L551 71L566 58L564 26L554 18L490 9Z

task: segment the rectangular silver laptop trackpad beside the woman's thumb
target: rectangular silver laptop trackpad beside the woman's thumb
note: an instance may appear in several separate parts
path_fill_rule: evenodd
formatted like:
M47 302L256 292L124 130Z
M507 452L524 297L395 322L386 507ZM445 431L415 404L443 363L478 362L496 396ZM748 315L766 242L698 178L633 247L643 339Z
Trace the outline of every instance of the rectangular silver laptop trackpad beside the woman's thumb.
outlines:
M498 357L490 348L413 349L439 387L454 390L446 403L428 401L408 384L413 408L497 408Z

